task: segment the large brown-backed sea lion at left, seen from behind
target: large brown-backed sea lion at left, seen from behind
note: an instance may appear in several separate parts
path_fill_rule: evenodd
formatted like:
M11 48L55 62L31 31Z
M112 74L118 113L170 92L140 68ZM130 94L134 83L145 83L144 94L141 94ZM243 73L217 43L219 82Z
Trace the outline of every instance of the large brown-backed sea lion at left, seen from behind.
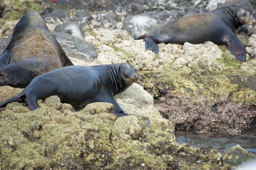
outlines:
M24 88L33 78L73 65L36 11L27 12L16 24L0 56L0 86Z

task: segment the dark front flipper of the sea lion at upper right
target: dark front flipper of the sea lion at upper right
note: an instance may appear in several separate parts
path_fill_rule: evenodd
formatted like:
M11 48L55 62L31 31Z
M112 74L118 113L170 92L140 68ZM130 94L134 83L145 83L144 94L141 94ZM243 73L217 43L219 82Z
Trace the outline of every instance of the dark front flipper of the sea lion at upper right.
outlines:
M228 45L228 50L231 54L234 54L240 61L245 61L245 48L236 35L225 36L223 42Z

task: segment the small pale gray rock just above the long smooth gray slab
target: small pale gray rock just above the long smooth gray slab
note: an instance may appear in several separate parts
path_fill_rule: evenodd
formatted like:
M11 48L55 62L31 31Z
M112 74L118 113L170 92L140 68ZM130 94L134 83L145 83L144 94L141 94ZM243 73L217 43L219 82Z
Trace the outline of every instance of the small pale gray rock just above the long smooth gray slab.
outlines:
M80 30L80 26L71 22L70 20L67 20L64 23L57 25L54 31L65 32L79 39L82 39L82 37L84 36Z

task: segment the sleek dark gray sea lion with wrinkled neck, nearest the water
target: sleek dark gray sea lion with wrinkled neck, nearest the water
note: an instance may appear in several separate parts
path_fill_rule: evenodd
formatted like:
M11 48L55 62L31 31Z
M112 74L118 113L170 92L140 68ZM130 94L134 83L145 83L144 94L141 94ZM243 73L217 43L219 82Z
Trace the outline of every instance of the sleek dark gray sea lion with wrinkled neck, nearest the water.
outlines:
M27 103L32 111L39 108L39 99L57 95L61 103L75 108L93 102L108 102L117 116L129 116L118 105L114 95L125 91L138 80L137 70L129 63L97 66L68 66L36 76L20 94L0 104L18 101Z

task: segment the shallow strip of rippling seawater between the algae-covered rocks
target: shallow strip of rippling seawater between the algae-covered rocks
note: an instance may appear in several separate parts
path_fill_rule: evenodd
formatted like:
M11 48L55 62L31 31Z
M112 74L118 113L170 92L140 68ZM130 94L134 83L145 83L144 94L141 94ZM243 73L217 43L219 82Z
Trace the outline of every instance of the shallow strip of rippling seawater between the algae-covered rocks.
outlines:
M256 155L256 131L244 131L238 135L217 133L198 134L193 131L175 131L177 143L187 143L194 147L212 146L224 151L228 147L240 145L245 150Z

